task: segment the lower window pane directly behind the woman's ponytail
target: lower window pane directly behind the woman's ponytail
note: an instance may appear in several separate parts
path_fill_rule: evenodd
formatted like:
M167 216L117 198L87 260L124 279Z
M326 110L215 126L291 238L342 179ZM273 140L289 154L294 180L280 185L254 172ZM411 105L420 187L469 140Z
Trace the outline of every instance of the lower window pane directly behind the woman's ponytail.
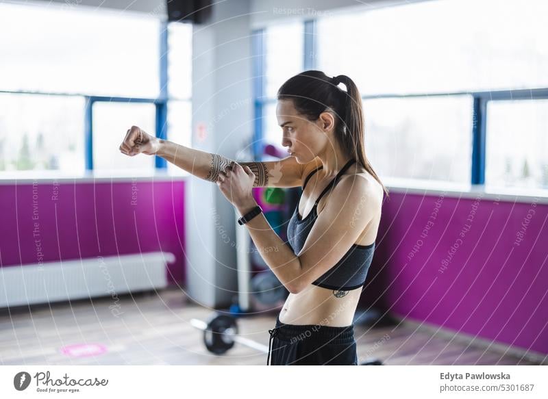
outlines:
M366 154L383 177L469 185L471 96L363 102Z

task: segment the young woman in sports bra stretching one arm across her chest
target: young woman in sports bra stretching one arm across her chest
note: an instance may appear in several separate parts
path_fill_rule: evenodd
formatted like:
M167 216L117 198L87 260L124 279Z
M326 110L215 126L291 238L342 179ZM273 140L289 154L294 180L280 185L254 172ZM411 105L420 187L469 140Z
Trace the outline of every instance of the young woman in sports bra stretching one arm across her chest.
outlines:
M279 88L276 114L289 153L280 161L238 164L158 140L138 127L127 131L120 151L156 154L215 182L245 216L260 255L290 292L269 330L266 364L357 365L353 316L388 194L365 155L360 92L345 75L308 70ZM260 186L303 188L288 243L251 195Z

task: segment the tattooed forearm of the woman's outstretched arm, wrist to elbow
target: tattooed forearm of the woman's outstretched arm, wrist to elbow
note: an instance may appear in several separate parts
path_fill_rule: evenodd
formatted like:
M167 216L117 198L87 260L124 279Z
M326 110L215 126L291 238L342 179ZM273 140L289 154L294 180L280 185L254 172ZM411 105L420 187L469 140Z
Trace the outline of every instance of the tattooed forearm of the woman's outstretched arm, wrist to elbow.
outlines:
M225 170L231 162L234 162L232 159L224 157L223 155L190 149L169 140L160 140L160 149L158 149L156 155L200 179L211 182L216 181L217 177L219 177L219 172ZM253 186L259 187L268 185L268 171L262 162L238 163L241 166L249 166L251 172L255 175Z

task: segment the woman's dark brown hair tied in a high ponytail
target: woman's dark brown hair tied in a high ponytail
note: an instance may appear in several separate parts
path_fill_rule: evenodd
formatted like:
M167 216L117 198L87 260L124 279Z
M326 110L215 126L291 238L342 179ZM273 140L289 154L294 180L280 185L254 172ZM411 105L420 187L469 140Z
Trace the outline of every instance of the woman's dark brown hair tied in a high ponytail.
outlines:
M343 83L347 90L338 87ZM345 153L356 159L382 185L365 154L365 123L362 96L346 75L328 77L321 70L306 70L288 79L277 92L277 99L291 99L295 110L308 120L317 120L330 108L336 114L336 140Z

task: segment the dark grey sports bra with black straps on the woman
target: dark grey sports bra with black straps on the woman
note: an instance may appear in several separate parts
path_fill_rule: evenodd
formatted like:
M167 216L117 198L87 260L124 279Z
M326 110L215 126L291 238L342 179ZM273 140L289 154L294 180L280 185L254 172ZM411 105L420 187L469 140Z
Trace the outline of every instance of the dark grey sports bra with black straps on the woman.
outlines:
M328 190L335 187L338 178L343 175L354 162L356 162L356 159L351 159L341 170L339 170L336 177L327 185L325 190L321 192L318 199L314 201L314 207L312 207L310 213L303 219L299 215L299 203L301 202L302 193L299 196L299 202L297 202L297 207L295 207L295 211L289 220L287 228L288 242L295 254L301 252L301 249L306 242L306 237L308 237L308 234L310 233L310 230L312 230L312 226L318 217L316 208L318 207L321 197L324 196ZM323 168L323 166L310 172L304 181L303 190L310 177L321 168ZM371 266L374 250L375 242L369 245L353 244L335 266L327 270L327 272L312 284L338 291L349 291L350 289L361 287L365 283L369 266Z

